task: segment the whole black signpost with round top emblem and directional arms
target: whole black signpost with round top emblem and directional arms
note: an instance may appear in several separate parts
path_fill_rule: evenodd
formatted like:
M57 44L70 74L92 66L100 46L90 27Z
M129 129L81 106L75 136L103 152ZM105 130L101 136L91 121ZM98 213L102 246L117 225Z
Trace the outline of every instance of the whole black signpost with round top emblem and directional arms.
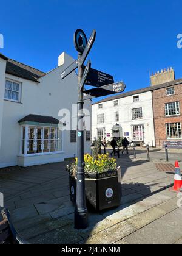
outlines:
M95 42L96 31L87 41L83 30L77 29L74 34L75 48L78 51L78 60L73 62L61 73L61 79L65 79L70 73L78 68L78 167L76 185L76 208L75 208L75 229L86 229L88 226L88 210L86 207L85 172L84 172L84 99L91 99L99 96L106 96L123 92L126 85L123 82L114 83L113 77L109 74L91 68L91 62L84 66L84 62ZM93 85L98 88L84 90L84 85ZM84 98L83 98L84 97Z

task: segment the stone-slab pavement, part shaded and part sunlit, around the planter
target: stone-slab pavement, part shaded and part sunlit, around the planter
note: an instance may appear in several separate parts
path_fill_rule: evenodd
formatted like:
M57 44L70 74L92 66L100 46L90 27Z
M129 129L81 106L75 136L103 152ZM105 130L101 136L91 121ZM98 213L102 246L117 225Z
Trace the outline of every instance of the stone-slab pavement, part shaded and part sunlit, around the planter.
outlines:
M0 169L0 192L13 223L30 243L181 243L182 210L170 192L174 174L122 155L123 197L118 208L89 213L86 230L73 229L70 162ZM182 201L182 200L181 200Z

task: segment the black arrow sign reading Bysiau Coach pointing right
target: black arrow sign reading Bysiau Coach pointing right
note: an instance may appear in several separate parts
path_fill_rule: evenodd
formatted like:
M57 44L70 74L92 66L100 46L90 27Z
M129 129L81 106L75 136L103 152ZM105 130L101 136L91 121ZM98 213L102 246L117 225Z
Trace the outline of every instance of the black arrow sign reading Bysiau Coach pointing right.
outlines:
M107 96L110 94L123 93L125 88L126 88L126 84L124 84L124 82L104 85L102 87L83 91L83 99L86 100L86 99L98 98L101 96Z

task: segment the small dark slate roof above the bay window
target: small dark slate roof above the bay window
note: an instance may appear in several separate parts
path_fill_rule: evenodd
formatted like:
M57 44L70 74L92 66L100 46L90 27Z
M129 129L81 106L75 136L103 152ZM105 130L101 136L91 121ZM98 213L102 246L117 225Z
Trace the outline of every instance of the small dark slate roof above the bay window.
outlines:
M18 123L23 123L25 121L45 123L45 124L59 124L59 120L53 118L52 116L41 116L41 115L28 115L18 121Z

